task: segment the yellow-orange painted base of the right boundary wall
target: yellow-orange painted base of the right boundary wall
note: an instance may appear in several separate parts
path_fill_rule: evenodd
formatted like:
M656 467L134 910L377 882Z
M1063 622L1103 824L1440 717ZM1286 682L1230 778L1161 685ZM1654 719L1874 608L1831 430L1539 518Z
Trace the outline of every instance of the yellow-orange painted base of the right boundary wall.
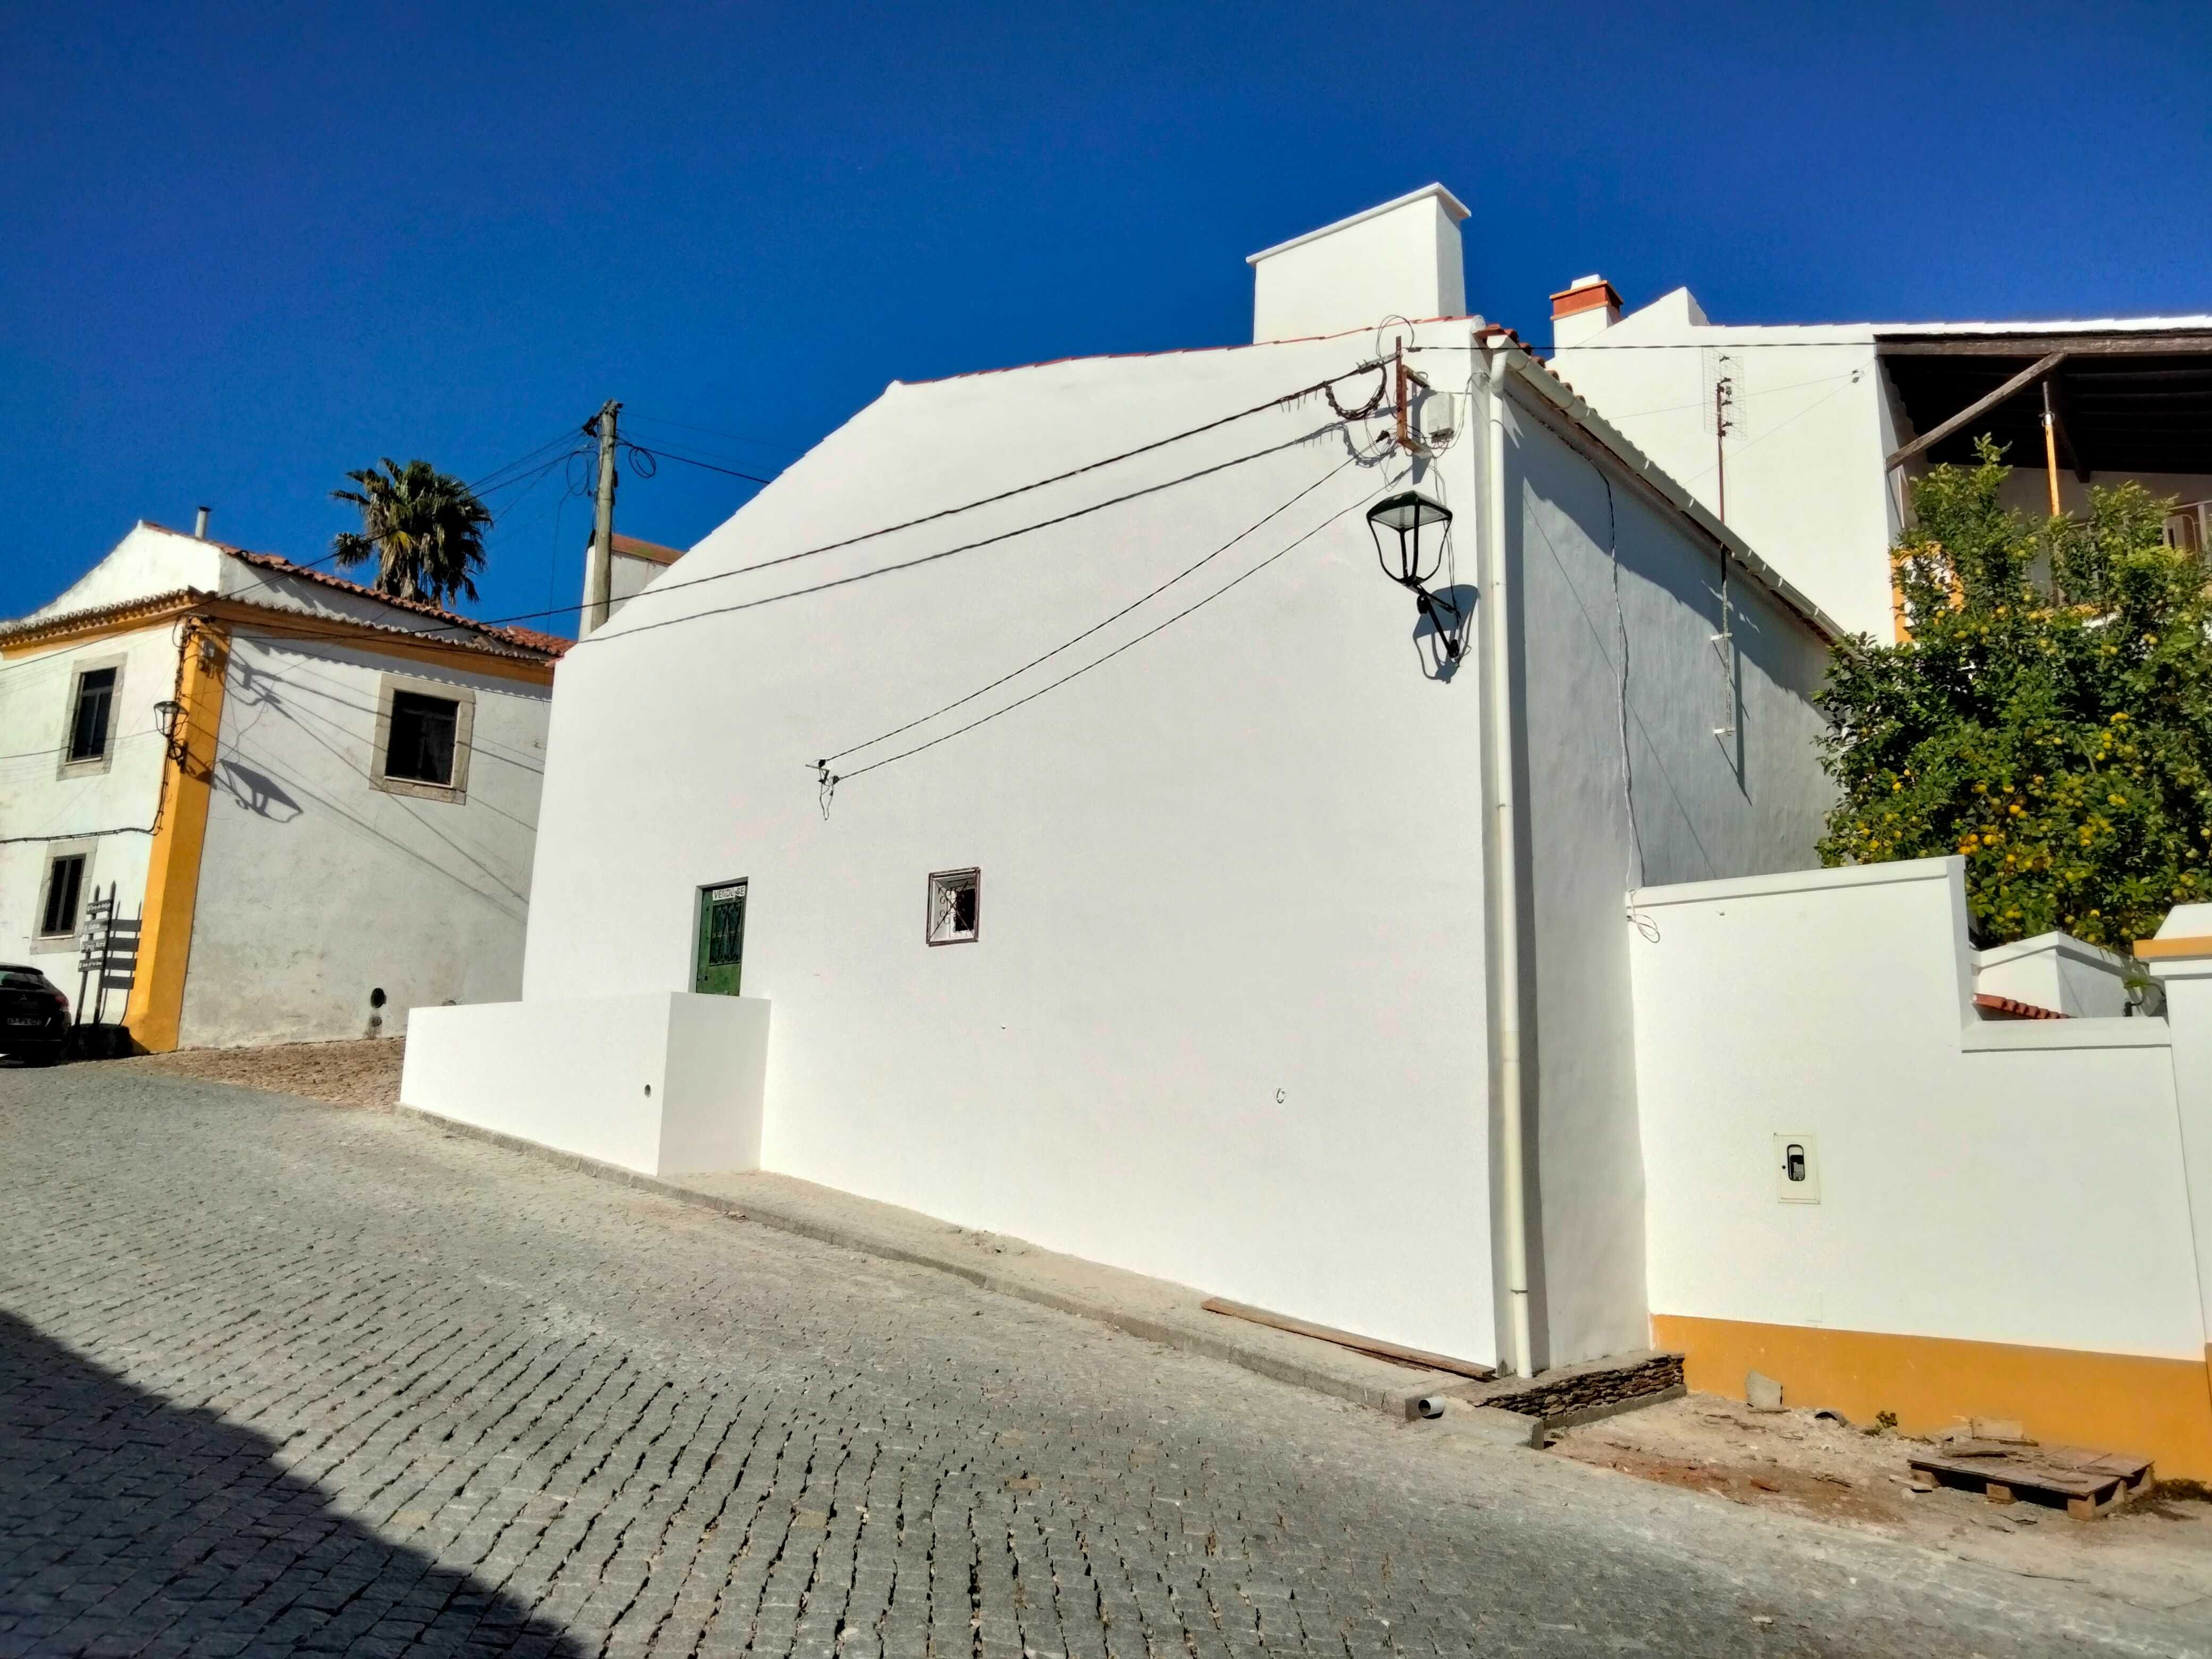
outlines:
M2044 1442L2152 1458L2161 1480L2212 1480L2212 1349L2199 1365L1688 1314L1652 1314L1652 1340L1688 1356L1686 1380L1703 1394L1741 1400L1743 1374L1763 1371L1785 1405L1834 1407L1851 1422L1896 1411L1907 1433L1933 1433L2017 1418Z

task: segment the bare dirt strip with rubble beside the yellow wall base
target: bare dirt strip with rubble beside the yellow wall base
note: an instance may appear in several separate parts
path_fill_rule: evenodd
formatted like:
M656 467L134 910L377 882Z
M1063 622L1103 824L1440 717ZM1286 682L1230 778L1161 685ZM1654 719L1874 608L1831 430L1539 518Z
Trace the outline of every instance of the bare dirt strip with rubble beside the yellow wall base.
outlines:
M2146 1608L2212 1604L2212 1504L2159 1489L2104 1520L1991 1504L1980 1493L1911 1489L1920 1442L1863 1433L1812 1411L1681 1400L1568 1429L1553 1453L1734 1504L1865 1526L2039 1579L2090 1584Z

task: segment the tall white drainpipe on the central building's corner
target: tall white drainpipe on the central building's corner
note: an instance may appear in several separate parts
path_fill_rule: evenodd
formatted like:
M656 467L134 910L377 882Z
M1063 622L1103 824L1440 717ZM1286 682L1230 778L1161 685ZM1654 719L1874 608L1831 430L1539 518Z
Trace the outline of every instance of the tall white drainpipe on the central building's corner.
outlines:
M1533 1376L1528 1338L1528 1192L1522 1148L1520 838L1513 823L1513 630L1506 615L1506 354L1489 358L1489 458L1482 526L1484 748L1491 763L1491 949L1498 973L1498 1232L1506 1263L1506 1354L1513 1376Z

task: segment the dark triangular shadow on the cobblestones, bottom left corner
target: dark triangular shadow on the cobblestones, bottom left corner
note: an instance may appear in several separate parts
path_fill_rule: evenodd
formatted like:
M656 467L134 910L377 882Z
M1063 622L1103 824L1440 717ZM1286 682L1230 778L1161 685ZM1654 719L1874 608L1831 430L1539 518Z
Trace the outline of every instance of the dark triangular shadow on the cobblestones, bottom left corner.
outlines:
M334 1513L272 1462L270 1440L146 1394L11 1314L0 1314L0 1400L9 1652L367 1637L392 1652L582 1655L518 1601Z

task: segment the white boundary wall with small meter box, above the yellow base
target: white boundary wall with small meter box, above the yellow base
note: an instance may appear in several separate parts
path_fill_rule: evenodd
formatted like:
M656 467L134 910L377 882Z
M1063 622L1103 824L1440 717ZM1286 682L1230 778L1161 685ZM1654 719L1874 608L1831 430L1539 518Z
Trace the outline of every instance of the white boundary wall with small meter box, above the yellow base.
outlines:
M2203 1360L2163 1020L1975 1020L1958 858L1637 898L1655 1312Z

